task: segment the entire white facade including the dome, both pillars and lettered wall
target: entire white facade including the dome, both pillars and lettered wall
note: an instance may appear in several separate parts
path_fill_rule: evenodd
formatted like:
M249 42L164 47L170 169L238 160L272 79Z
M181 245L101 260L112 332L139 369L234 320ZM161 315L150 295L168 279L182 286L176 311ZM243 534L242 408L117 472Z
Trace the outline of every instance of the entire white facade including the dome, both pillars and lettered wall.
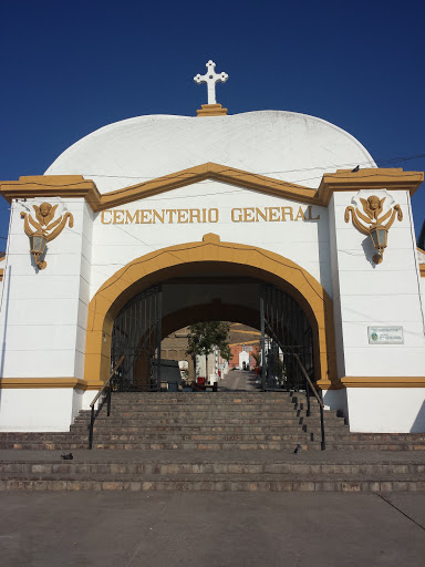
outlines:
M178 176L207 162L310 188L338 168L375 167L366 150L336 126L301 114L265 111L123 121L71 146L45 175L83 175L107 194L165 175ZM365 198L385 195L386 206L397 204L403 212L403 220L395 220L388 231L380 265L372 260L376 250L370 237L344 220L359 190ZM198 243L214 233L221 241L292 260L330 296L338 378L348 382L346 388L323 394L330 409L345 412L352 431L425 431L425 278L419 270L425 255L416 249L407 189L382 186L362 193L353 187L333 192L325 206L208 178L95 213L84 197L54 200L51 195L12 200L8 254L0 262L4 269L0 375L9 384L0 389L0 430L66 431L95 391L13 388L13 380L27 385L31 379L83 381L87 309L101 286L137 258L172 245ZM72 213L74 225L48 244L48 267L38 270L20 214L53 200ZM228 302L249 307L248 288L242 298L237 290L220 293ZM183 289L176 297L184 309L195 296ZM212 299L211 291L204 302ZM371 326L402 327L404 342L370 344ZM374 377L394 379L396 385L352 385L355 379ZM410 378L423 379L423 386L414 388L408 380L405 386L403 380Z

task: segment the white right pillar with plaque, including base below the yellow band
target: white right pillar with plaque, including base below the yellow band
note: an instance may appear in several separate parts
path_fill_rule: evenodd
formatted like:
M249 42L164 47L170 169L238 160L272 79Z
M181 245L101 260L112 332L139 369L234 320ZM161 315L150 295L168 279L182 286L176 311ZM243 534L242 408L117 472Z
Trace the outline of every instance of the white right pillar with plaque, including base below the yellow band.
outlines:
M391 227L380 265L372 261L371 238L344 221L353 195L335 193L329 205L339 377L424 377L424 308L408 193L390 194L403 220ZM404 343L370 344L372 326L403 327ZM425 389L348 388L346 394L352 431L425 430Z

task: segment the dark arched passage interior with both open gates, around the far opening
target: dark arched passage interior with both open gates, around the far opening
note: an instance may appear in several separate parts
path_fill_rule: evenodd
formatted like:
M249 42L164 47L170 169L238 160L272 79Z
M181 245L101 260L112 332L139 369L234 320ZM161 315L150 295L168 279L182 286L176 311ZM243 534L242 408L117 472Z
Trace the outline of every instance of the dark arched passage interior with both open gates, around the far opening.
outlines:
M165 280L124 306L112 331L111 368L124 357L114 389L162 390L167 374L162 377L162 340L184 326L211 320L237 320L261 331L258 388L303 389L303 372L314 381L313 331L299 303L253 278L208 275Z

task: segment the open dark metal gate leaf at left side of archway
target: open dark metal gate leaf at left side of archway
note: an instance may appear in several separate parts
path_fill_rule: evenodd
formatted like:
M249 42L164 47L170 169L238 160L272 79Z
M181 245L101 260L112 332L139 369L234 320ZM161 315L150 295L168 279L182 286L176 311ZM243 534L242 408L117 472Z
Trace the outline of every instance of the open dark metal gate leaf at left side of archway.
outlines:
M124 361L114 389L160 390L162 289L153 287L134 297L118 313L112 331L111 368Z

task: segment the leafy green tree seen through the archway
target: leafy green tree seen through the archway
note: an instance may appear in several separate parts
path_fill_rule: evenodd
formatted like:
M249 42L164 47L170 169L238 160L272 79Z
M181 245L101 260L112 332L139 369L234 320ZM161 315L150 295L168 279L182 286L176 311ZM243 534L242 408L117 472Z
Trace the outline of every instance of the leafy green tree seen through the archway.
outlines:
M207 321L204 323L195 323L189 326L189 339L186 354L190 354L195 360L196 373L196 355L205 357L205 372L207 373L208 354L217 347L225 360L231 359L229 346L229 323L224 321ZM207 378L207 377L205 377Z

